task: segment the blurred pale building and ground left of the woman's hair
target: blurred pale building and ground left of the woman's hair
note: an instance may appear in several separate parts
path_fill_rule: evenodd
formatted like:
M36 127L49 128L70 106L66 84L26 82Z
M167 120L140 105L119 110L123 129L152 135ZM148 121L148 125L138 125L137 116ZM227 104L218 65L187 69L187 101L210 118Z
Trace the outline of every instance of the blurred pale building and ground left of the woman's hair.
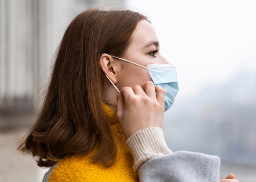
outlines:
M81 11L110 2L122 0L0 0L1 182L42 181L47 169L21 156L17 143L33 121L31 109L40 107L67 25Z

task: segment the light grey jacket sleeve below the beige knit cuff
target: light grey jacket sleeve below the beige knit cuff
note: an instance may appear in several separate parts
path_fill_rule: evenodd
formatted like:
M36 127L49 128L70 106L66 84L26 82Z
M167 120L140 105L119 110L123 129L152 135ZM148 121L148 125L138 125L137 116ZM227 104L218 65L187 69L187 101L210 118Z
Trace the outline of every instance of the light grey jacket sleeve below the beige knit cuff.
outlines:
M139 167L140 182L219 182L220 158L177 151L152 158Z

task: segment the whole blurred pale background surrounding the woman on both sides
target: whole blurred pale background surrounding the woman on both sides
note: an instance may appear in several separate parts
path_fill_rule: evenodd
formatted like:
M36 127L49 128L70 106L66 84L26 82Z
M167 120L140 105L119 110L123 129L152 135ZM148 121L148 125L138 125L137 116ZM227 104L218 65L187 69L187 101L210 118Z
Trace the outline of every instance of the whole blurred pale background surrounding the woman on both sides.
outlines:
M170 149L221 157L221 178L256 181L256 1L0 0L0 182L40 182L17 143L33 123L72 18L108 3L149 17L180 91L165 113Z

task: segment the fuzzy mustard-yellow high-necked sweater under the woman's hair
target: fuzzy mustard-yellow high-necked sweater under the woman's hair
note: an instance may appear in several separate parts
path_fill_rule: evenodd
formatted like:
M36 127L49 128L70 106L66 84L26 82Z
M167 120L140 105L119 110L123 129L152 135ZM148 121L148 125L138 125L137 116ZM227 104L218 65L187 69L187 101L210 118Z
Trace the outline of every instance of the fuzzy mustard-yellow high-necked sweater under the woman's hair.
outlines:
M90 162L89 156L70 156L61 160L53 169L49 182L135 182L137 174L133 171L133 158L126 147L126 138L117 123L115 112L104 105L111 118L112 132L117 141L117 159L111 167Z

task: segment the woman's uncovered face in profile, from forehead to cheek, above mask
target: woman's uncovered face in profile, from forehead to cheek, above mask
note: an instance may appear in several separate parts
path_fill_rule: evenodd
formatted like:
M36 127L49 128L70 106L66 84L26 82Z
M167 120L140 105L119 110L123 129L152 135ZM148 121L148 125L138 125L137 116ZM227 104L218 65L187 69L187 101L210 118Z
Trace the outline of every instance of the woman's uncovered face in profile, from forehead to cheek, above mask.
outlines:
M124 53L124 59L147 67L148 64L169 64L159 53L159 42L153 26L146 20L138 22L131 36L130 45ZM135 64L121 61L125 64L118 72L117 87L133 87L152 81L148 70Z

